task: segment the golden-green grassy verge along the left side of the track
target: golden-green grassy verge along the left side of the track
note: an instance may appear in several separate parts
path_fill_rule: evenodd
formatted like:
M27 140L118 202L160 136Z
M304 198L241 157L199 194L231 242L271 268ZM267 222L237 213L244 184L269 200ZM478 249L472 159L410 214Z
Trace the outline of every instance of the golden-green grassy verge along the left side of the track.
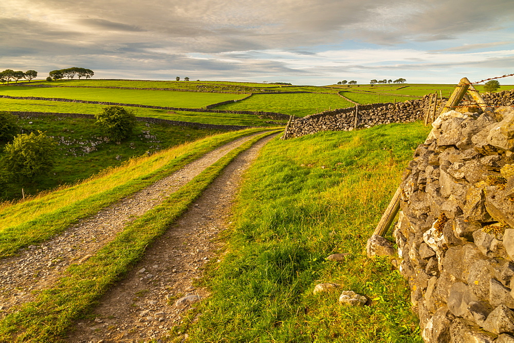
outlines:
M138 190L162 179L216 147L263 129L229 132L130 160L78 185L30 201L0 207L0 258L39 243Z

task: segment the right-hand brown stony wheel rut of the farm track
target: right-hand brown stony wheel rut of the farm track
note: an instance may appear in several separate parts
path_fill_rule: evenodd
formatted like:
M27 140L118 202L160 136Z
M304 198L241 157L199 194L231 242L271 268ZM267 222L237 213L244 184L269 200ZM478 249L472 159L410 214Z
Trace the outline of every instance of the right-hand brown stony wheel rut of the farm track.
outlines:
M223 244L217 236L230 224L242 174L275 136L261 139L234 159L188 211L148 247L133 270L100 299L93 310L95 318L77 321L66 340L139 342L172 338L168 330L181 323L183 314L196 301L210 295L207 289L196 289L193 281L203 275L210 260L220 261L216 251ZM190 301L183 299L186 296Z

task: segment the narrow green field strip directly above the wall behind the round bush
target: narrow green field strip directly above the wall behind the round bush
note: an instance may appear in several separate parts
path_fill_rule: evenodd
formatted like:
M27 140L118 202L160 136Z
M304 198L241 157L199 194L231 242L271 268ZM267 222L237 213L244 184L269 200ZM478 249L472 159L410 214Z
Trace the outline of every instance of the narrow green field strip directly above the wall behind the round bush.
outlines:
M105 105L68 103L44 100L17 100L0 98L0 110L7 111L29 111L29 112L57 112L57 113L85 113L96 115ZM248 126L270 126L266 121L269 118L259 118L253 115L240 115L232 113L208 113L190 111L168 111L166 109L131 107L137 117L150 117L182 122L218 124L218 125L248 125ZM271 120L283 122L281 120Z

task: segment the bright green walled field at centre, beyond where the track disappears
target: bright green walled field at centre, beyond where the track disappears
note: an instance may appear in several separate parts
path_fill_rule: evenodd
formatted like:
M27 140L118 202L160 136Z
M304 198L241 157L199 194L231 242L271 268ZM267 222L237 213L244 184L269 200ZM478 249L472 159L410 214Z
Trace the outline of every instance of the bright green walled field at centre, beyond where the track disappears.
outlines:
M336 94L257 94L233 104L218 106L216 109L259 110L279 112L305 117L327 109L354 106Z

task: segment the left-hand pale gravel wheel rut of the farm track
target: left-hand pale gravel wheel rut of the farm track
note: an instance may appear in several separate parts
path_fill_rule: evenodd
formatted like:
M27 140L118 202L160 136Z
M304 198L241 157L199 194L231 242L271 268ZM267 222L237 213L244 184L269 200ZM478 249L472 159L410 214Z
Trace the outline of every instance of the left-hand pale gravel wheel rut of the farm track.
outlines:
M96 215L80 220L51 240L0 260L0 318L34 300L33 291L51 287L70 264L83 263L112 241L125 225L160 204L229 151L259 134L225 144Z

